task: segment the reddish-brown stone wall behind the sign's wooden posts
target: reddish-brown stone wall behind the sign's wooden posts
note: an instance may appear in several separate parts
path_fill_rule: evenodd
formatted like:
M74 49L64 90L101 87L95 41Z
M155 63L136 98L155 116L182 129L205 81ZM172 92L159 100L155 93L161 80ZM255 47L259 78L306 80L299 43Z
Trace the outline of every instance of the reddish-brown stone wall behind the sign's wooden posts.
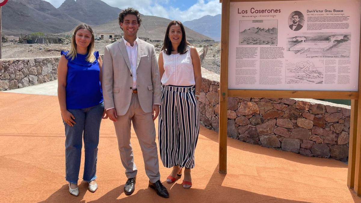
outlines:
M218 131L219 82L203 78L201 124ZM351 107L313 99L228 98L228 137L347 161Z

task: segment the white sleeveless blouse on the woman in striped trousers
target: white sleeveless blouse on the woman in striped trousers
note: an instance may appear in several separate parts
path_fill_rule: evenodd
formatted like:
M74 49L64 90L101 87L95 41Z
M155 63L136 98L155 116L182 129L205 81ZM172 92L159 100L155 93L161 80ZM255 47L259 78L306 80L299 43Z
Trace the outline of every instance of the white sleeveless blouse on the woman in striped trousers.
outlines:
M195 85L191 48L183 54L167 55L162 51L164 74L161 79L163 85L191 86Z

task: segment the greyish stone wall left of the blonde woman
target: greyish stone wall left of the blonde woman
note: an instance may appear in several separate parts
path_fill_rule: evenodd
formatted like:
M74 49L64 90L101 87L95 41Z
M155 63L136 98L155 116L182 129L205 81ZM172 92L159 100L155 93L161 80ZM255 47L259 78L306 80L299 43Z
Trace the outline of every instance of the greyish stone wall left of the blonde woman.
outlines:
M57 79L60 57L0 60L0 91Z

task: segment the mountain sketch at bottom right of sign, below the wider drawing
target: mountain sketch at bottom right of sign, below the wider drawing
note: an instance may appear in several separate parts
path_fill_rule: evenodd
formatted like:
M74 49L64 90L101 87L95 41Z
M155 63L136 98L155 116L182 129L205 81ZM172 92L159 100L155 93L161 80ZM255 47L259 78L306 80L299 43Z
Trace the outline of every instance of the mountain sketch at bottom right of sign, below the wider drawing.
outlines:
M322 84L323 60L286 63L287 84Z

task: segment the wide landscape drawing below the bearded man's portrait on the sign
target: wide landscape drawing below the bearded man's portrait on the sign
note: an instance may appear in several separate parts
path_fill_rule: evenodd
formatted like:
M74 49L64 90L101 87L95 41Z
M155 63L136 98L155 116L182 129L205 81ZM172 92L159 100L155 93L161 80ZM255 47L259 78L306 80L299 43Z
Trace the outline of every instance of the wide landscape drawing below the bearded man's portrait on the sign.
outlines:
M288 51L301 58L349 58L351 33L303 33L288 38Z

